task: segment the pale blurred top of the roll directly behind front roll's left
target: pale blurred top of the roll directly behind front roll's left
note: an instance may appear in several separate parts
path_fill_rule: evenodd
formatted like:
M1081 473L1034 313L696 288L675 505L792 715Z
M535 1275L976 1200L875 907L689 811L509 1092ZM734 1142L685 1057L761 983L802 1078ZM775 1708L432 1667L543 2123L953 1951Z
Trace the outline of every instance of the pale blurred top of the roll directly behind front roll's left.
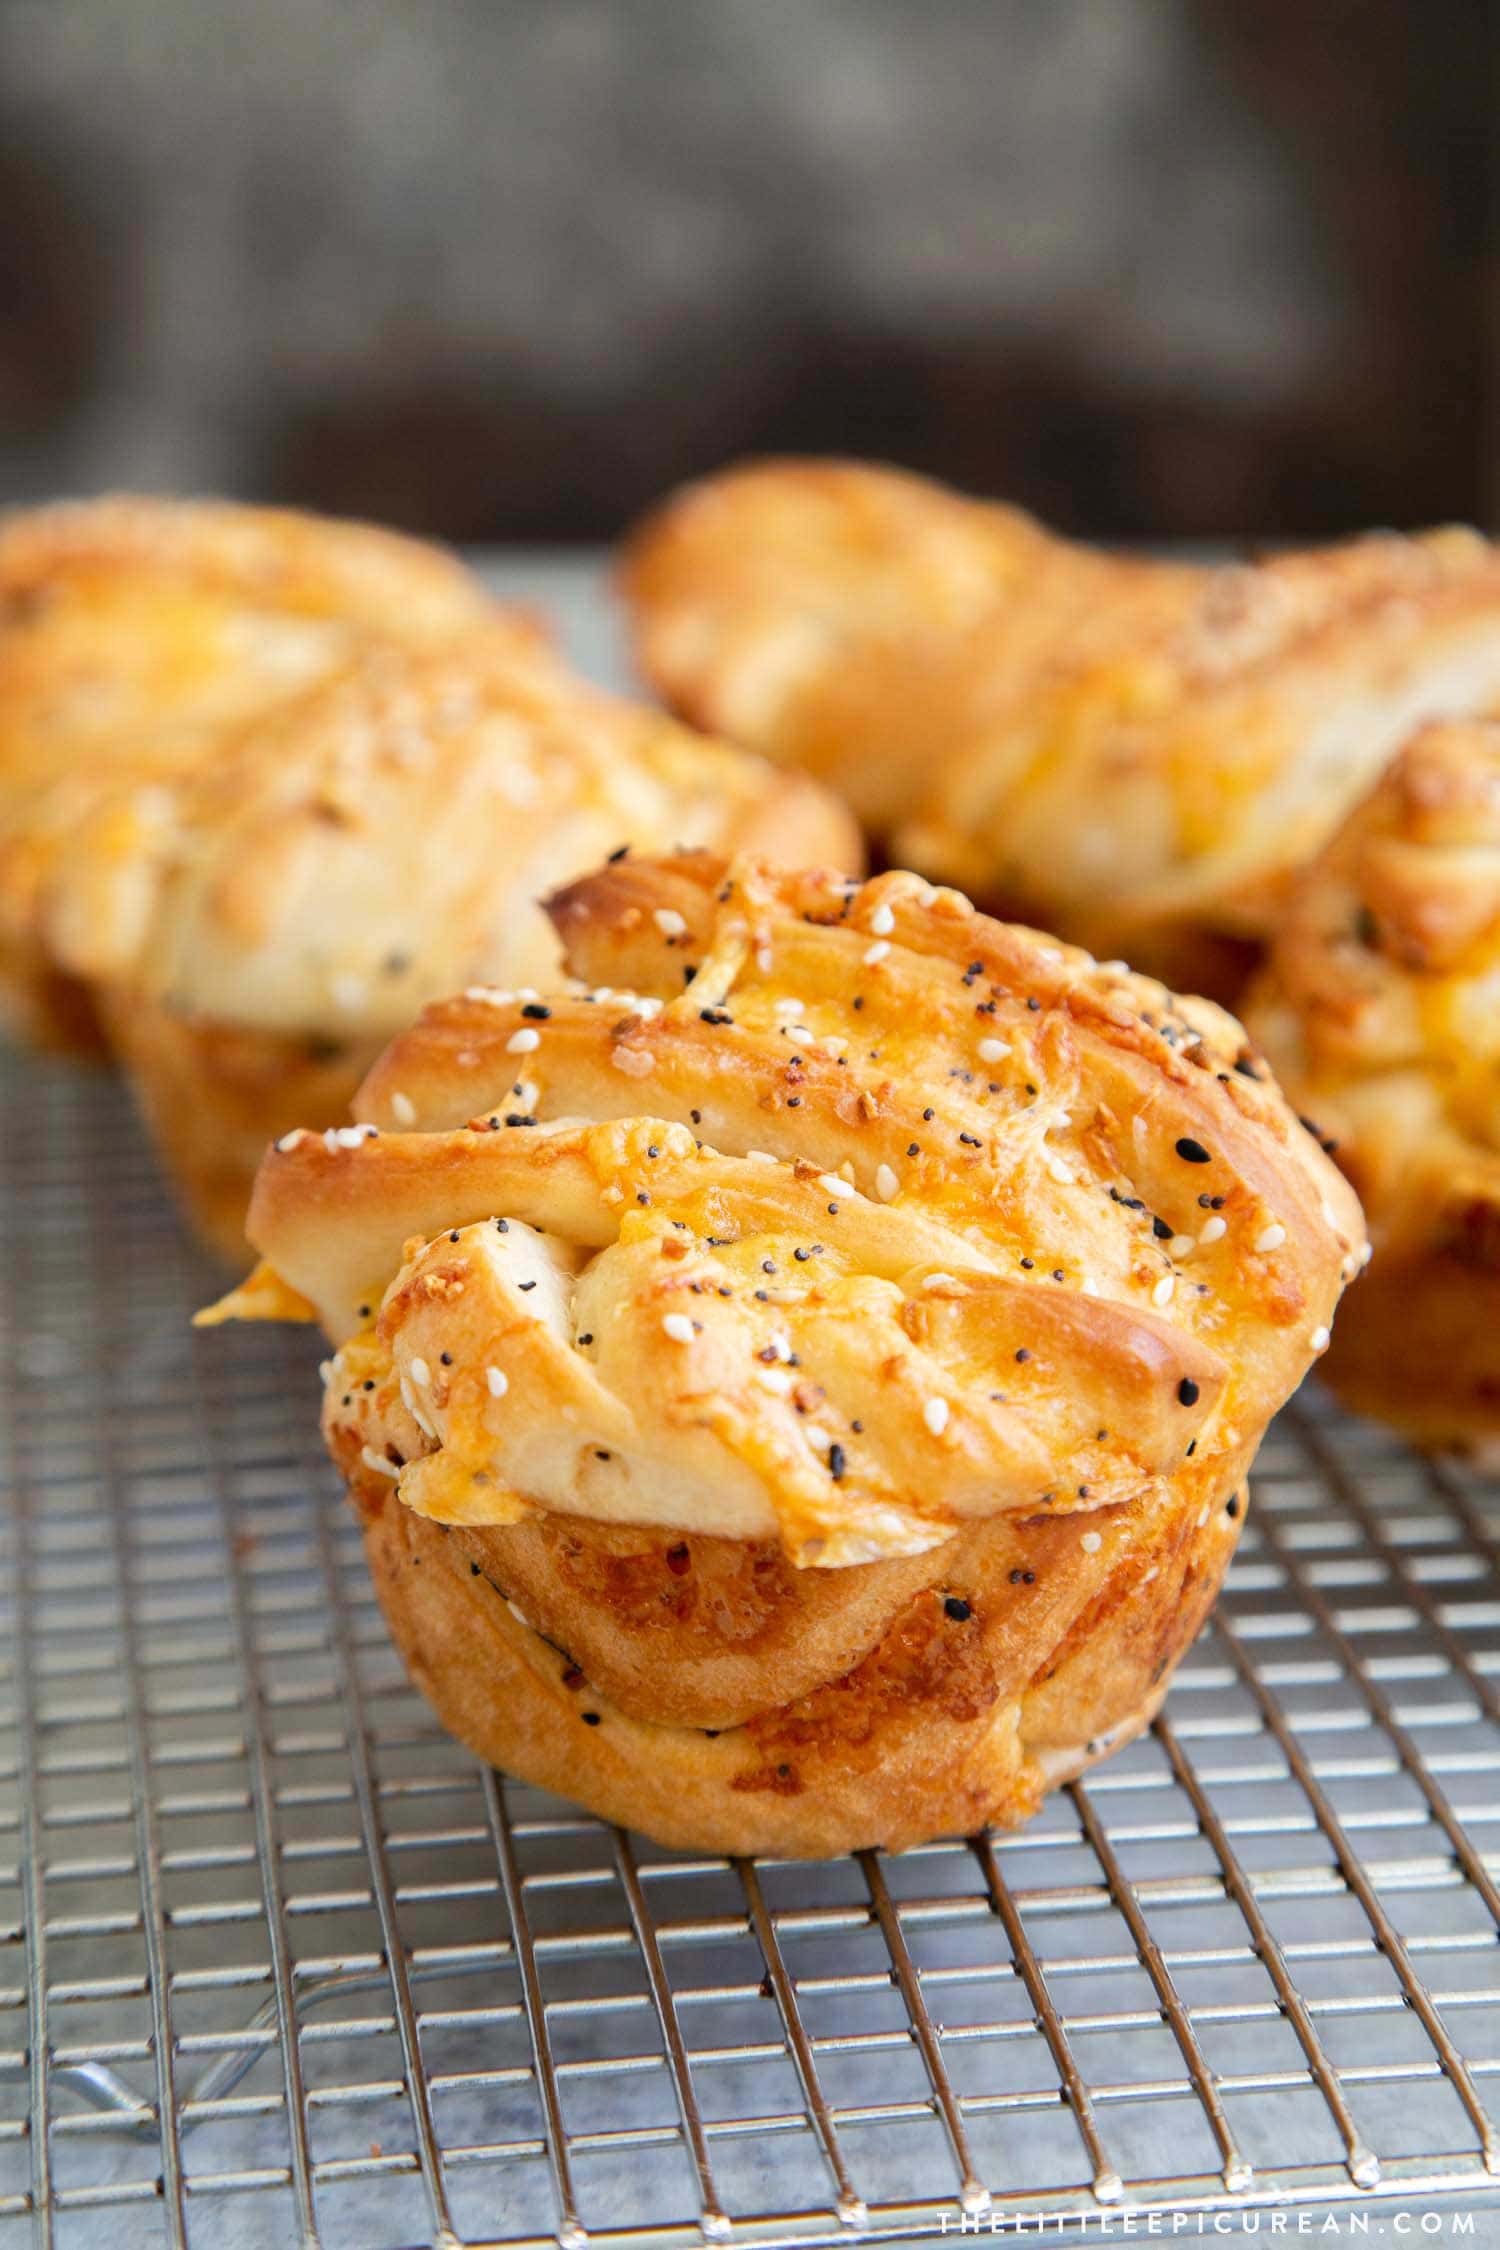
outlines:
M135 974L209 1022L385 1040L436 992L549 976L540 900L616 846L742 839L859 864L805 776L488 623L367 655L225 740L175 803Z

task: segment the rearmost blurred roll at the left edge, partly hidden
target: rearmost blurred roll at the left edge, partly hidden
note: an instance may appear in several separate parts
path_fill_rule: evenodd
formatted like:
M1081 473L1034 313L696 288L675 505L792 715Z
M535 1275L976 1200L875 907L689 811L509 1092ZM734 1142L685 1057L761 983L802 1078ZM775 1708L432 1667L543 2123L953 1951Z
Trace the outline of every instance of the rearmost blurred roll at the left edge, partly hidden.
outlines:
M0 524L0 1010L45 1044L92 1044L58 965L58 882L88 853L144 884L162 785L227 729L371 641L434 641L495 614L418 540L281 508L110 497Z

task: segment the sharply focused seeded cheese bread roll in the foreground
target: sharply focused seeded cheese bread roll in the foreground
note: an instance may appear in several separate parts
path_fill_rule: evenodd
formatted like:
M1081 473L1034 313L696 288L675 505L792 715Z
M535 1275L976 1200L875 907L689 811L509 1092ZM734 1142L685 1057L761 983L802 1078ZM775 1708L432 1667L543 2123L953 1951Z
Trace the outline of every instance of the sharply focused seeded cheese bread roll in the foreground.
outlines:
M1019 1820L1156 1710L1358 1206L1239 1026L915 875L625 857L582 988L288 1134L220 1316L322 1318L414 1678L666 1843Z

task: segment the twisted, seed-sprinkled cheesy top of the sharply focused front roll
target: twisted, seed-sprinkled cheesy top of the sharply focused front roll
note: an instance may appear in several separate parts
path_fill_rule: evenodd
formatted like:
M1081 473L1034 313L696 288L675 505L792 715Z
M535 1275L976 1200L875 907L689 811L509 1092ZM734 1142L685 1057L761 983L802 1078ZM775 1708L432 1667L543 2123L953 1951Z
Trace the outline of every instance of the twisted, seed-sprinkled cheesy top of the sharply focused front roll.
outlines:
M582 990L430 1008L250 1213L418 1512L911 1555L1237 1472L1325 1348L1358 1208L1221 1010L902 873L553 916Z

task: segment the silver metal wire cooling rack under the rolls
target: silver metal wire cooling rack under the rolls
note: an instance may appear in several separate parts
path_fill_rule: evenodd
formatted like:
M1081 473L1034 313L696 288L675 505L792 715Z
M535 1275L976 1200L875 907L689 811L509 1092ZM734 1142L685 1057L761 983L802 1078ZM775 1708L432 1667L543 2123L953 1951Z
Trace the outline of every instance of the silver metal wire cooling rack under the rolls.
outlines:
M693 1861L412 1694L308 1339L0 1078L0 2246L832 2243L1489 2203L1500 1492L1325 1402L1151 1737L1014 1836Z

